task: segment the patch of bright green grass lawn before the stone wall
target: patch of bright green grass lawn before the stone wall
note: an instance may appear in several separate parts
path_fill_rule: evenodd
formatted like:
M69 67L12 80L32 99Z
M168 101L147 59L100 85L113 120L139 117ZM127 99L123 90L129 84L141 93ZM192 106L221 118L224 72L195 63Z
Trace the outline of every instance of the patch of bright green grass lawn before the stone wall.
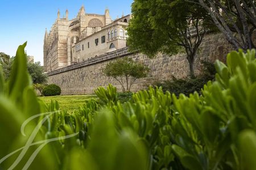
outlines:
M94 95L80 95L80 96L49 96L49 97L39 97L39 99L43 100L46 104L51 103L51 100L57 100L60 109L68 111L69 113L75 109L78 109L82 105L84 105L85 100L89 100L92 98L96 98Z

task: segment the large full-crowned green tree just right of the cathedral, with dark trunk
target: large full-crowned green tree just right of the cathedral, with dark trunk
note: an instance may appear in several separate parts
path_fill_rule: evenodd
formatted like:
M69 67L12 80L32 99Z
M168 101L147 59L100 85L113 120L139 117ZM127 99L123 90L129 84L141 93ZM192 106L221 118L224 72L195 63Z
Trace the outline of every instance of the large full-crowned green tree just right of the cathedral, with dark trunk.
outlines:
M203 7L184 0L135 0L132 14L127 28L130 50L154 57L183 49L190 75L195 76L196 53L210 23Z

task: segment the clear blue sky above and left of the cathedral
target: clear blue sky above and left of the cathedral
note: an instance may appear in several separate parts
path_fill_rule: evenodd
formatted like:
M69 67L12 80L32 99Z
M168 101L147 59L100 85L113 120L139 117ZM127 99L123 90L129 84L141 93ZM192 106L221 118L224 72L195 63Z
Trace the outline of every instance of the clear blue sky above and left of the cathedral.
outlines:
M122 12L131 13L133 0L0 0L0 52L15 56L18 45L27 41L27 54L43 63L43 39L46 28L51 28L57 18L69 11L69 19L75 18L82 5L86 13L104 14L109 8L116 19Z

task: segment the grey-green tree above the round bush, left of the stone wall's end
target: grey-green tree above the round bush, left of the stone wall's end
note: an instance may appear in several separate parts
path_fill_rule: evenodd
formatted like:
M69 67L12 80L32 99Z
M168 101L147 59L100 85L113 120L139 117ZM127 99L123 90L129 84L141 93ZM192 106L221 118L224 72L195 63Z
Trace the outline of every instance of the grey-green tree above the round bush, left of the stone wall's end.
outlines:
M34 84L44 84L47 82L47 75L44 74L44 69L40 66L40 62L28 62L27 69Z

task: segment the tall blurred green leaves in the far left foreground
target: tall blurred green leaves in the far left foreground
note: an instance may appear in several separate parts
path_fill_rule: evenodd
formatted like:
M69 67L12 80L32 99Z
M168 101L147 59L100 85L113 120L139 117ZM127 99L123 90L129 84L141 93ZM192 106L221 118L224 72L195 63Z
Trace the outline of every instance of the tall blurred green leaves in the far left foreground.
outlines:
M26 127L24 134L20 134L20 127L30 116L44 112L43 105L40 105L32 88L32 81L27 72L27 61L24 53L26 43L20 45L14 63L12 65L10 78L7 82L4 80L2 68L0 66L0 158L10 154L17 148L24 146L30 137L31 131L35 128L36 122L32 121L29 128ZM35 141L43 138L42 133L38 133ZM16 165L16 169L22 169L26 160L30 158L35 146L31 146L24 153L23 159ZM49 147L44 147L34 159L31 169L56 169L56 159ZM19 156L15 154L12 158L0 164L0 169L8 169L14 160ZM25 162L24 162L25 160Z

